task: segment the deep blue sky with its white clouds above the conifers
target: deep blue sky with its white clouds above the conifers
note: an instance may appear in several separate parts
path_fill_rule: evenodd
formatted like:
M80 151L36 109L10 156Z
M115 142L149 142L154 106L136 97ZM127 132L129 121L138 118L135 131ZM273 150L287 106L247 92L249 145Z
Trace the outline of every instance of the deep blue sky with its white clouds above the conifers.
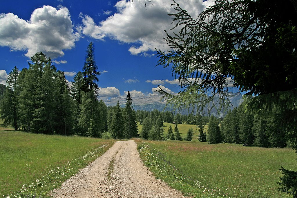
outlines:
M82 70L86 48L94 43L99 76L99 96L132 97L154 93L158 85L168 92L179 86L170 68L157 66L154 48L168 50L164 30L173 27L167 15L170 0L139 2L118 0L1 1L0 83L14 66L28 66L30 57L44 52L65 72L69 82ZM210 1L180 0L197 16ZM70 84L70 83L69 83Z

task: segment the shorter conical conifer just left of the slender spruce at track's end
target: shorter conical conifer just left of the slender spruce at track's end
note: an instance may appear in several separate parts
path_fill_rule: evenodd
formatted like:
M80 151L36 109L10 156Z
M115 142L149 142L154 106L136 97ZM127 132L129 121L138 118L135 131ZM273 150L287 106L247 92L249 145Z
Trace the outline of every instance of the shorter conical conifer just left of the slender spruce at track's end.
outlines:
M123 119L120 108L120 103L118 101L117 105L113 109L112 122L110 124L110 135L114 139L124 138L123 134Z

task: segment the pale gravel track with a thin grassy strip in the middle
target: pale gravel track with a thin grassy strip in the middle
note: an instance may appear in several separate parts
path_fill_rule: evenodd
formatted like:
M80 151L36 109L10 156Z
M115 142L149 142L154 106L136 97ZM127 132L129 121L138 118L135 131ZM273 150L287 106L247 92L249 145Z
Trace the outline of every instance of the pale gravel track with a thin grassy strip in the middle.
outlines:
M136 148L133 140L117 141L105 154L55 189L52 196L183 198L181 192L155 179L141 162Z

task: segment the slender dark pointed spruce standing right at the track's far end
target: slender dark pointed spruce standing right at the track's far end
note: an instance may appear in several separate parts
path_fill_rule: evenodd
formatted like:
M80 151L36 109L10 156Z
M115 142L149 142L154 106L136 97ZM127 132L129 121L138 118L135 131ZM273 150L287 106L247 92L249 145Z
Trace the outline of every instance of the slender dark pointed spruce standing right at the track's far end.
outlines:
M138 137L138 126L135 111L132 107L132 98L129 91L126 98L127 101L125 103L125 109L123 113L124 136L125 138L130 139L132 137Z

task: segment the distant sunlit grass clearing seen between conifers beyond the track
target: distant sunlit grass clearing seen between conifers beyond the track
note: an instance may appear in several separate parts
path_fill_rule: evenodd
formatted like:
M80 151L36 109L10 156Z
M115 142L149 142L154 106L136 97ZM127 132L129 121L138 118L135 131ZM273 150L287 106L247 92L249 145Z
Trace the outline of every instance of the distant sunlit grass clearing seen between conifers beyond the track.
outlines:
M171 125L172 129L174 130L174 124L164 122L163 123L163 128L164 128L164 135L165 136L167 134L169 125ZM192 141L198 141L197 137L198 137L198 134L199 134L199 132L198 132L199 129L197 128L197 131L196 131L196 127L197 127L196 125L193 125L193 124L178 124L177 127L178 127L178 131L181 133L181 138L187 137L188 130L190 128L192 128L193 131L194 131L194 135L193 135L194 139ZM208 125L205 125L204 126L204 131L207 131L207 128L208 128ZM142 125L139 124L139 122L138 122L138 131L139 131L139 133L140 133L141 130L142 130Z

